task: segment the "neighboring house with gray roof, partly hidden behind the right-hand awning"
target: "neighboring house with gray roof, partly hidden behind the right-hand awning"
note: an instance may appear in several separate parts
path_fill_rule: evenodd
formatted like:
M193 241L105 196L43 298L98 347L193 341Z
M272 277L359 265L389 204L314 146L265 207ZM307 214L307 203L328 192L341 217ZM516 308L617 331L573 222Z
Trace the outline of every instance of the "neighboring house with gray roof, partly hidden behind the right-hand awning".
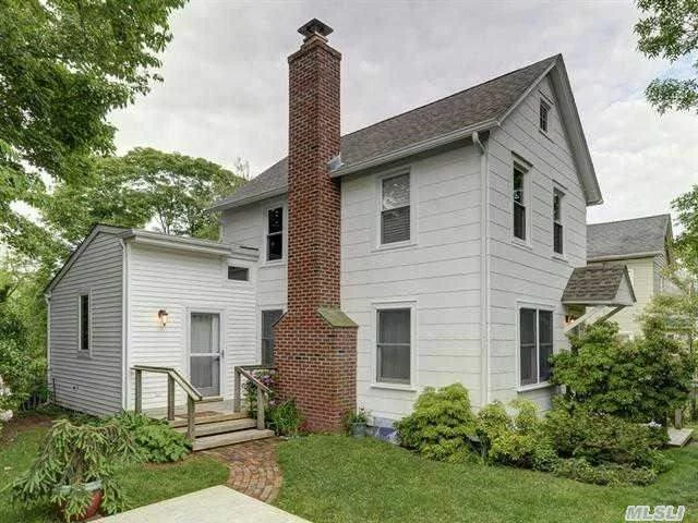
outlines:
M587 262L590 266L627 266L637 303L613 317L621 335L626 338L641 332L637 315L652 296L673 289L663 273L672 262L672 241L670 215L591 223L587 228Z

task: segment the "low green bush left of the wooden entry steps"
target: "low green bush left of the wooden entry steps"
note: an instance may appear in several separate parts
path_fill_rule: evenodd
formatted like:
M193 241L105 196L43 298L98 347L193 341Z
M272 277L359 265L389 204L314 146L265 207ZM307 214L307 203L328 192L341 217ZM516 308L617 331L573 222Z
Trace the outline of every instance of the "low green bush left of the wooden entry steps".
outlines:
M190 443L167 422L153 419L145 414L122 412L112 418L132 434L142 459L152 463L179 461L189 453Z

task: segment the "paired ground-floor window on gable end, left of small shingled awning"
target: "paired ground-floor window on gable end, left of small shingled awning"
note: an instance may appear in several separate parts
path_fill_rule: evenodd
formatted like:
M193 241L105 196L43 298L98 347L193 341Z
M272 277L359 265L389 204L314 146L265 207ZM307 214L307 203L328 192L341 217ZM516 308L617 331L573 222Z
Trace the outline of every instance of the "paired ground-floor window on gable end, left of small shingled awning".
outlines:
M547 381L553 354L553 313L540 308L519 309L519 376L526 387Z

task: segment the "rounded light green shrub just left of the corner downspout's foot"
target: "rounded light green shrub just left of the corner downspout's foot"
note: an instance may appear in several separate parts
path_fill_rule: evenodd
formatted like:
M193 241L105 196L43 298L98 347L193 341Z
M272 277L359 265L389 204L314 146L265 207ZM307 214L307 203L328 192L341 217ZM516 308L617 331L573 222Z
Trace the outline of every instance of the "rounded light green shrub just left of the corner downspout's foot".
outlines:
M438 461L461 461L476 435L468 390L460 384L428 387L409 416L395 424L400 443Z

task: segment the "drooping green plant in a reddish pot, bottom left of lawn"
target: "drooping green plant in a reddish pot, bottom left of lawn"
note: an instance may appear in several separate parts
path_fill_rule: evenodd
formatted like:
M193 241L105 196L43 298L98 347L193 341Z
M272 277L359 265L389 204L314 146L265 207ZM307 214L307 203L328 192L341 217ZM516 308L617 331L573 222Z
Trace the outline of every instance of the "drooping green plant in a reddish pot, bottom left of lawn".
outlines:
M59 419L46 436L39 455L13 485L15 500L26 507L53 503L65 521L83 521L100 509L127 508L115 469L139 457L127 428L115 422L74 425Z

